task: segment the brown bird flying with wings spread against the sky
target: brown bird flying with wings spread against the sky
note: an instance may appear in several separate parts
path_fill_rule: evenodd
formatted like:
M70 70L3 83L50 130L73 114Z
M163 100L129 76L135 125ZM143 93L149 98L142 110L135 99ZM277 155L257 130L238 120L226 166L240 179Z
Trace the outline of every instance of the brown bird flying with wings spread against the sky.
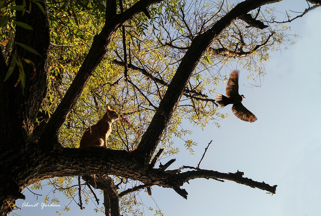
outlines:
M239 70L232 70L226 85L226 96L217 93L216 100L221 108L233 104L232 111L236 117L246 122L255 122L256 116L241 103L244 95L239 95Z

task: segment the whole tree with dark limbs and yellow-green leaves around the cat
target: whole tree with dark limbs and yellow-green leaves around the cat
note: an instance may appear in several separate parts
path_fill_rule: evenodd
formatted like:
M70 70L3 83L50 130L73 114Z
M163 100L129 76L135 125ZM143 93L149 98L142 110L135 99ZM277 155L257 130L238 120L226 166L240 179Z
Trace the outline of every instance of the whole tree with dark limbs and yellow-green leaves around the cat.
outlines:
M166 170L174 160L154 166L162 154L178 152L170 137L189 133L179 129L183 117L203 127L225 117L208 95L227 61L243 58L254 75L263 73L268 50L287 40L273 13L264 16L273 11L261 12L279 1L1 2L1 214L24 198L23 188L49 178L62 186L70 176L104 191L106 215L119 215L120 197L152 185L187 198L181 186L195 178L275 193L276 186L243 172ZM308 2L303 14L321 4ZM106 103L122 114L109 139L114 149L76 148ZM191 152L193 144L186 140ZM115 182L128 180L142 184L117 190Z

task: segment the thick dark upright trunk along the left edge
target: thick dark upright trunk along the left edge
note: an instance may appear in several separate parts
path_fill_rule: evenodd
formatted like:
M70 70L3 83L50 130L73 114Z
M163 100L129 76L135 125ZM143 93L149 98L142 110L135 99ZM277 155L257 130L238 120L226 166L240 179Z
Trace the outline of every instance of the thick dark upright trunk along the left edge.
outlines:
M49 22L47 14L43 13L37 4L31 4L32 11L25 13L16 12L16 20L30 25L33 30L16 26L13 51L22 61L25 73L25 87L22 88L22 80L19 78L19 68L16 67L10 78L3 82L7 68L4 67L4 59L1 60L1 145L0 145L0 166L1 166L1 190L0 190L0 214L7 215L12 211L15 200L23 198L19 182L21 171L28 167L33 158L36 148L32 142L32 132L35 125L37 113L47 91L48 75L48 48L49 48ZM22 5L16 1L16 5ZM41 3L46 9L46 5ZM29 5L27 5L29 8ZM11 38L13 40L13 38ZM25 44L35 49L39 55L31 53L22 48ZM2 57L2 56L1 56ZM34 67L27 64L23 59L30 60ZM11 61L13 58L11 58ZM36 71L34 71L34 69ZM22 78L22 77L21 77ZM31 150L31 151L30 151ZM26 154L29 154L26 158Z

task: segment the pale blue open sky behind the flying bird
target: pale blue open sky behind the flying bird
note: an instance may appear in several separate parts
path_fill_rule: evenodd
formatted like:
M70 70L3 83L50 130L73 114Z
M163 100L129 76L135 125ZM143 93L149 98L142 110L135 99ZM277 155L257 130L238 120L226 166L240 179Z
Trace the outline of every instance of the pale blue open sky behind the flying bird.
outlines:
M283 3L283 9L295 10L295 4L302 2L306 5L302 0L290 2L290 6L289 1ZM278 185L275 195L235 182L199 179L182 187L188 192L187 200L172 189L158 186L152 187L152 197L141 192L136 198L141 198L146 206L154 209L157 204L166 216L321 215L320 20L321 8L318 8L291 23L291 32L300 36L297 43L288 50L272 53L265 64L264 83L256 91L246 87L249 86L246 81L248 72L241 70L239 92L246 97L243 105L258 118L255 123L239 120L233 115L231 106L227 106L223 112L230 117L220 122L220 129L214 125L208 125L204 131L194 128L194 135L189 137L199 143L194 156L182 151L172 157L177 161L170 169L182 165L196 166L204 148L213 140L200 168L219 172L242 171L244 177ZM219 93L225 93L223 88ZM184 142L177 140L177 144L182 147ZM48 192L39 191L43 195ZM29 191L25 191L25 195L29 204L43 202L41 197L36 201ZM16 213L24 216L57 215L55 211L69 204L65 199L61 201L61 208L22 207L22 211ZM23 202L18 200L17 205L22 206ZM95 215L94 206L85 206L85 210L80 210L74 203L71 206L72 211L62 212L62 215ZM154 215L154 212L145 207L145 215Z

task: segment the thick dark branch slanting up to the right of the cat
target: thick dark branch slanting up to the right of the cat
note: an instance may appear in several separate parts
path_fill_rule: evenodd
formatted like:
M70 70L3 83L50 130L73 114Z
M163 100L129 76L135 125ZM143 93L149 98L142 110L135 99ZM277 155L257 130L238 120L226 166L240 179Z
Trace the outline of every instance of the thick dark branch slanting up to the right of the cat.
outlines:
M178 105L178 101L186 88L192 72L213 41L240 15L246 14L262 5L279 1L281 0L247 0L241 2L224 17L216 21L212 28L194 38L169 84L168 90L161 100L151 124L147 128L136 149L136 151L145 158L146 163L150 161L153 152L157 148L161 136L169 124L169 120Z

